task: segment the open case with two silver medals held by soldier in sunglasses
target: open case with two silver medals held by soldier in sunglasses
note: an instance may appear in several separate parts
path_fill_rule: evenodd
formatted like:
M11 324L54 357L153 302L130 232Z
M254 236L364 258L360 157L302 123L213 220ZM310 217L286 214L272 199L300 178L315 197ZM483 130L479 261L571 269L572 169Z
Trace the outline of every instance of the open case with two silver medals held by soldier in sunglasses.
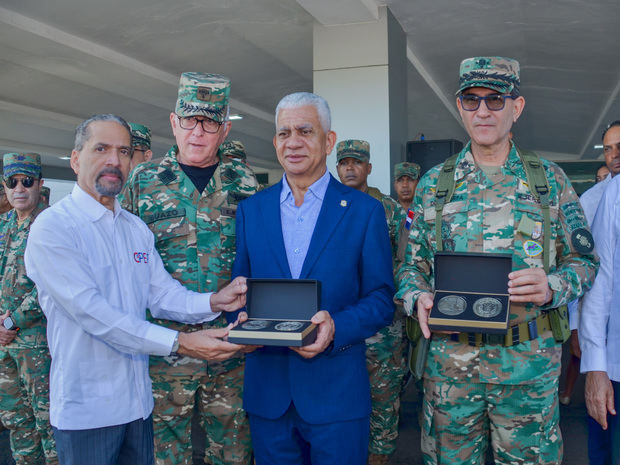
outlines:
M510 315L511 271L511 254L435 253L435 297L429 327L504 334Z

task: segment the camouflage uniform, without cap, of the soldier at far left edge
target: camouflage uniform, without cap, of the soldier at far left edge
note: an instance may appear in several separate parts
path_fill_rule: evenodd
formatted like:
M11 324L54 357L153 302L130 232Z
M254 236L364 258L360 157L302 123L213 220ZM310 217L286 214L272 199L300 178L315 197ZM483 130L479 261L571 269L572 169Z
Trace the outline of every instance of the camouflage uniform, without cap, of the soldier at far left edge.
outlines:
M17 465L58 463L49 423L46 319L24 266L30 225L44 208L40 203L21 224L15 210L0 216L0 309L10 311L20 328L13 342L0 347L0 419L11 431Z

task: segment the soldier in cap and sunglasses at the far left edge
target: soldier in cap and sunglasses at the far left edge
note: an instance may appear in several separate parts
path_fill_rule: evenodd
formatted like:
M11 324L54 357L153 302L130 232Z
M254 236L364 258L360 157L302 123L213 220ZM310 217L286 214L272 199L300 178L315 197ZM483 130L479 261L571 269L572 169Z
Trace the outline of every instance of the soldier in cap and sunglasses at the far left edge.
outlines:
M19 330L0 326L0 419L11 432L17 465L57 464L49 423L46 319L24 266L30 225L47 207L40 199L41 157L7 153L3 163L3 184L14 208L0 217L0 321L10 317Z

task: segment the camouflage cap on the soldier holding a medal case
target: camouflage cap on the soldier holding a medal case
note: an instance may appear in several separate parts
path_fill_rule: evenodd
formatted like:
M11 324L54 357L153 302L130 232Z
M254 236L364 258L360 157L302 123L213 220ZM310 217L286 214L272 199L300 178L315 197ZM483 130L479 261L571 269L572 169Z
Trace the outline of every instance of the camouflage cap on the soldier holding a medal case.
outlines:
M461 62L459 90L486 87L502 94L519 90L519 62L504 57L473 57Z

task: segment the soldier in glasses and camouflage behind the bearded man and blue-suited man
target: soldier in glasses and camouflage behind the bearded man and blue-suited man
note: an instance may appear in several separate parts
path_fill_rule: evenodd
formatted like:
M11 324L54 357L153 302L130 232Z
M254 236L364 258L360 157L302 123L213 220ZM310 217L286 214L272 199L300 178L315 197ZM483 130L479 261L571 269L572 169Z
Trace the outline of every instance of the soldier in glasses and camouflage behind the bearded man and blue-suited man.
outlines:
M177 145L159 163L130 175L120 201L155 235L172 276L188 289L216 291L230 280L235 258L237 203L254 194L256 178L239 161L219 160L230 131L230 82L215 74L183 73L170 123ZM200 329L158 321L184 331ZM225 326L218 318L209 327ZM244 359L203 362L151 357L158 464L190 464L190 423L197 405L207 435L206 460L214 465L249 463L251 441L242 409Z

